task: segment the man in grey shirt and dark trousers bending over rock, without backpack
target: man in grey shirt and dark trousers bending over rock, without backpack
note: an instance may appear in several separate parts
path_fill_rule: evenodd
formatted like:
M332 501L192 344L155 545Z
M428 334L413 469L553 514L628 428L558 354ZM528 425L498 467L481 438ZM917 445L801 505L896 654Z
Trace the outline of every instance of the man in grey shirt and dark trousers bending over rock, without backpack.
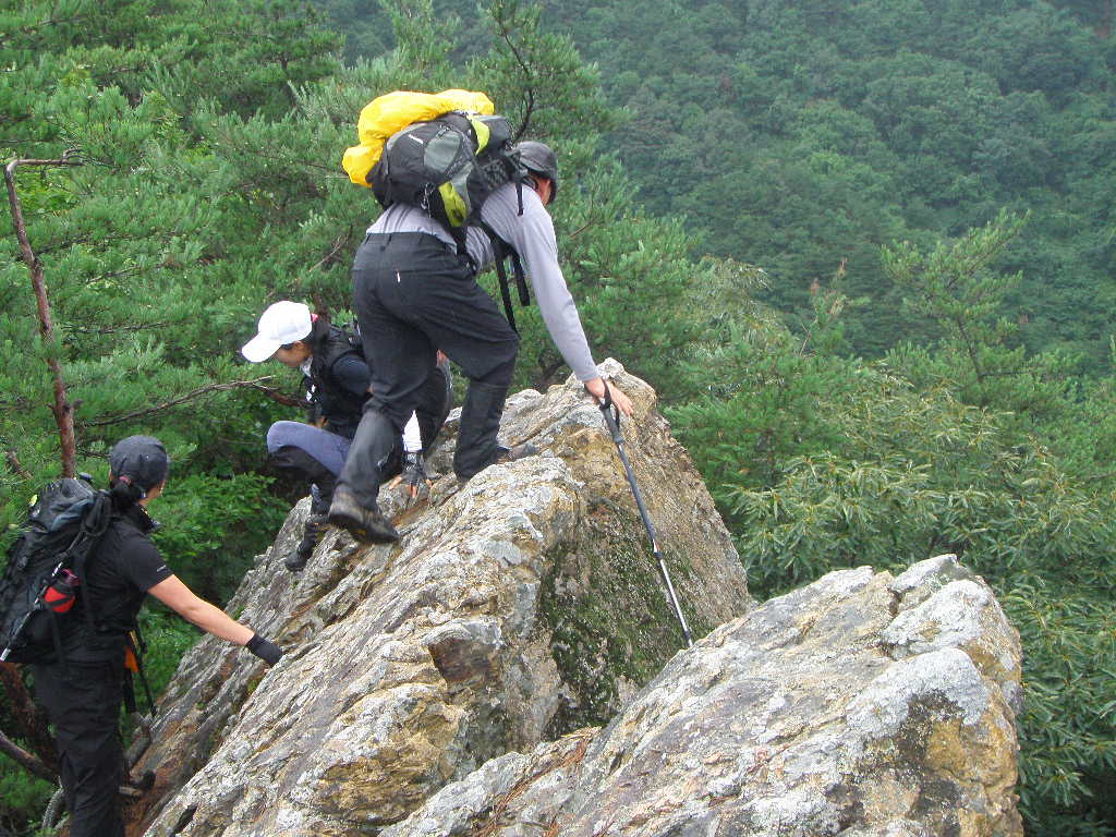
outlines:
M477 133L475 124L472 129ZM489 127L483 131L491 146ZM439 141L450 133L443 132ZM402 151L413 145L419 144L404 144ZM507 182L482 198L479 208L469 210L477 223L451 230L426 209L408 202L404 190L384 186L384 161L389 160L392 146L388 140L379 165L365 177L378 184L377 198L384 201L386 195L388 205L368 229L353 264L354 308L365 352L376 358L373 395L365 405L329 509L331 522L358 539L374 542L398 539L376 498L394 439L415 407L423 382L434 366L436 348L469 378L453 460L458 477L469 479L518 453L501 448L497 433L519 335L477 283L479 269L492 264L504 247L518 256L530 275L547 329L577 378L598 401L610 392L616 407L625 415L632 414L627 396L597 372L558 264L554 224L546 210L558 192L554 151L538 142L511 148L506 156L514 171ZM489 148L491 154L499 152ZM350 179L359 182L360 170L350 163L356 156L348 154L346 164ZM502 162L488 161L485 173ZM391 186L389 173L386 180ZM425 193L432 196L431 191ZM474 198L466 194L456 203ZM452 211L453 206L446 209Z

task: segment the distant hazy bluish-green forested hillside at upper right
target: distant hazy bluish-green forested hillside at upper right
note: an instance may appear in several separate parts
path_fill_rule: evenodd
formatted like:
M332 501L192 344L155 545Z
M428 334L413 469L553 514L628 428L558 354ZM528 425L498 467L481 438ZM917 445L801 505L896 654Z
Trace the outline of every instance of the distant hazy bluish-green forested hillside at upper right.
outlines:
M323 0L347 55L389 42L375 0ZM471 2L445 0L468 40ZM1097 372L1116 319L1113 1L550 0L629 119L607 136L648 211L760 264L800 320L815 282L855 301L853 350L937 336L896 317L878 248L1030 212L1004 312L1032 350ZM352 21L352 25L350 25Z

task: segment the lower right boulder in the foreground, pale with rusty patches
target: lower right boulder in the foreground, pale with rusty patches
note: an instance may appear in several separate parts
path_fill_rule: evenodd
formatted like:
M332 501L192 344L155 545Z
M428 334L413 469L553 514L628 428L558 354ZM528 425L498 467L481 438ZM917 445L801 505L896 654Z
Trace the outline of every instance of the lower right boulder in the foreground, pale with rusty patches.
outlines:
M382 837L1011 837L1019 638L953 556L833 573L675 656L604 730Z

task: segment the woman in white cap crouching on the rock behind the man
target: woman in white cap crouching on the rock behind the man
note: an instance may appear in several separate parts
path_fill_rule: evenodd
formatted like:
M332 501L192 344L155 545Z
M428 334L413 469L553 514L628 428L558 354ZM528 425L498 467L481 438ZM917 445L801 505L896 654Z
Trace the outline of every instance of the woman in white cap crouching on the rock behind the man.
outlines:
M310 483L310 517L302 539L285 561L292 573L301 570L314 554L328 522L337 474L345 464L360 412L368 398L372 376L358 334L333 325L310 312L301 302L282 300L270 306L259 320L258 334L241 353L252 363L276 359L302 372L311 423L280 421L268 429L267 446L277 468L291 471ZM453 383L444 358L420 383L415 407L396 434L384 473L401 473L415 494L426 472L424 455L437 437L453 404Z

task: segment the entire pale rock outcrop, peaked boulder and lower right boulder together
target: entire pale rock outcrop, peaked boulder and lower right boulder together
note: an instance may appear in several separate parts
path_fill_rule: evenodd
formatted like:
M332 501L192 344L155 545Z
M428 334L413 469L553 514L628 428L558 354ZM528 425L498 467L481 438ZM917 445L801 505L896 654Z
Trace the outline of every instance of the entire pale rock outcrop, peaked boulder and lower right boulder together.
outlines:
M540 454L383 492L401 543L334 531L291 576L296 508L229 605L287 655L186 655L133 833L1021 836L1019 637L989 587L942 556L756 607L654 393L607 369L693 648L597 408L521 393L502 435Z

